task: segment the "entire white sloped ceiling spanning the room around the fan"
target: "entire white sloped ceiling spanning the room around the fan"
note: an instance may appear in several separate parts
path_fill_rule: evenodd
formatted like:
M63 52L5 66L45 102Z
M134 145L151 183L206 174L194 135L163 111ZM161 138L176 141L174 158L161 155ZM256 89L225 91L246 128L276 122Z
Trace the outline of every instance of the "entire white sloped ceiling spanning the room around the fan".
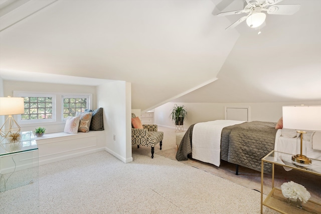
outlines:
M132 108L143 111L173 99L321 100L319 0L284 0L300 10L267 15L260 35L245 22L225 30L242 15L215 16L242 9L240 0L30 0L15 10L1 7L8 1L0 1L3 79L36 72L124 80L132 85ZM54 76L47 79L64 83Z

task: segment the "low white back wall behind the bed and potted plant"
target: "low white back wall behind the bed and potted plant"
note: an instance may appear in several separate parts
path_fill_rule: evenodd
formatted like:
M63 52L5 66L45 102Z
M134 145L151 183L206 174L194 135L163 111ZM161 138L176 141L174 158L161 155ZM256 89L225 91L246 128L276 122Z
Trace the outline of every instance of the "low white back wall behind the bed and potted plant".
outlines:
M155 108L155 124L175 127L169 115L174 105L184 105L187 109L187 119L184 121L184 129L194 123L210 120L224 120L225 106L250 106L250 121L277 122L282 116L282 106L284 105L321 105L319 102L275 102L275 103L166 103Z

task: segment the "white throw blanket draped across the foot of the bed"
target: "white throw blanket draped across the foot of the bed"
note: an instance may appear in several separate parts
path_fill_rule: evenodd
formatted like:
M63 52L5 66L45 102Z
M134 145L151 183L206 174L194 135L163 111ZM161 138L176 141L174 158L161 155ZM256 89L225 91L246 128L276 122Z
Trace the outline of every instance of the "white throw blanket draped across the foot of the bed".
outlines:
M192 158L220 166L222 129L244 122L246 121L214 120L195 124L192 135Z

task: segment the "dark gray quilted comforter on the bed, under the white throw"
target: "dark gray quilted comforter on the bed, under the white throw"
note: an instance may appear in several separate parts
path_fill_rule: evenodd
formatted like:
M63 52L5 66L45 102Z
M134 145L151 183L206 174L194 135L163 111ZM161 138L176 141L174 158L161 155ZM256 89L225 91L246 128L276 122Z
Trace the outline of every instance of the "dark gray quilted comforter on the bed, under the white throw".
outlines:
M261 159L274 149L276 123L252 121L223 128L221 134L221 159L261 171ZM192 125L183 137L176 159L187 160L192 153ZM271 172L271 165L264 167Z

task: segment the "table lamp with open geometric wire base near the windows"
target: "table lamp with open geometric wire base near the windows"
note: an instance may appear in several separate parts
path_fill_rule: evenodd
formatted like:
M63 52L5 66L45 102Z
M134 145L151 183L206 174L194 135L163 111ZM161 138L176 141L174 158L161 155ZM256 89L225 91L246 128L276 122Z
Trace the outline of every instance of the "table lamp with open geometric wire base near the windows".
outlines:
M0 97L0 115L8 115L4 125L0 128L0 135L8 137L20 132L20 126L13 118L14 114L25 113L23 97Z

